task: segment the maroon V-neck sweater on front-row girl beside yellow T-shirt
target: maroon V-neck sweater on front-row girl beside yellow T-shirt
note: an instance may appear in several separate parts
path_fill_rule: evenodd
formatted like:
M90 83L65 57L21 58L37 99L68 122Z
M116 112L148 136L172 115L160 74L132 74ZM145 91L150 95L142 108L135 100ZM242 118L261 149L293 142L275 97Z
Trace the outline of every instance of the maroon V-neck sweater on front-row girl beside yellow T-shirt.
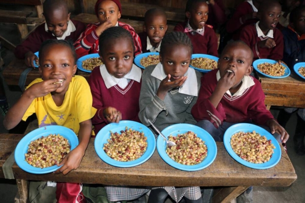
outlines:
M97 109L96 115L92 118L95 134L108 124L103 116L103 111L107 107L114 107L120 111L123 120L140 122L138 114L141 83L131 80L125 89L118 85L107 89L98 66L90 74L89 85L93 97L92 106Z

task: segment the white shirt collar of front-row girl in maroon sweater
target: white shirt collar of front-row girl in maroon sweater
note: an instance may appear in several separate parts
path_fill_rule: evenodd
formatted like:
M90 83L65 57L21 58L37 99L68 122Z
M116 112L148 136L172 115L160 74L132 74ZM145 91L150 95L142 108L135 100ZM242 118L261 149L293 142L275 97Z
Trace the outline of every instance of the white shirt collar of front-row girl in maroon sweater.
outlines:
M100 72L101 72L102 78L105 82L107 89L109 89L110 87L112 87L114 85L117 85L121 80L119 78L115 78L115 77L111 76L108 73L105 64L102 64L100 66ZM131 68L130 72L128 74L126 74L124 76L124 78L122 78L122 79L123 80L130 79L130 80L135 80L137 82L140 82L141 77L142 77L141 69L138 66L136 66L135 64L132 64L132 68Z

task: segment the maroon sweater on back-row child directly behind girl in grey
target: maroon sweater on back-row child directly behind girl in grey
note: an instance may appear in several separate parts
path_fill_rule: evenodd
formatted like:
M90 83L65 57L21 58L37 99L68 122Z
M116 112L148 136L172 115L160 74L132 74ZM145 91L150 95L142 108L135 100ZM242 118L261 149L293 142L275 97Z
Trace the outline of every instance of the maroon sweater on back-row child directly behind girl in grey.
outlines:
M177 24L174 31L184 32L187 22L181 22ZM193 34L194 33L194 34ZM218 42L215 31L204 25L204 35L200 35L196 32L186 32L187 36L192 41L193 44L193 54L209 54L213 56L218 56Z

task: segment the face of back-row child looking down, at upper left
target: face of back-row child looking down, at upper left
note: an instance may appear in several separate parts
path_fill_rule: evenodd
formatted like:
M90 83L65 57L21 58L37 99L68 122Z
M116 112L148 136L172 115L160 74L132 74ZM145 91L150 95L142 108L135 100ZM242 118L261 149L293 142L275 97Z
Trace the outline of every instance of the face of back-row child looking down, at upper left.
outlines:
M45 15L45 18L49 31L57 38L62 37L67 30L70 13L63 9L57 9Z

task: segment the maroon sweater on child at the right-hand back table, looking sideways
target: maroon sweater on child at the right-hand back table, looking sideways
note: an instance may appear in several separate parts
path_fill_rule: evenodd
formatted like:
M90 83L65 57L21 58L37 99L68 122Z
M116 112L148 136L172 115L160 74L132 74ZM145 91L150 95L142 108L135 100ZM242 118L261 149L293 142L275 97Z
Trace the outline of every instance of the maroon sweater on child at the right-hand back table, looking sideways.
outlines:
M245 42L253 51L253 60L258 58L282 60L284 52L284 39L282 32L277 28L273 29L273 40L276 42L276 46L272 49L267 47L258 47L258 42L267 39L268 37L257 37L255 24L245 26L240 32L240 40Z

